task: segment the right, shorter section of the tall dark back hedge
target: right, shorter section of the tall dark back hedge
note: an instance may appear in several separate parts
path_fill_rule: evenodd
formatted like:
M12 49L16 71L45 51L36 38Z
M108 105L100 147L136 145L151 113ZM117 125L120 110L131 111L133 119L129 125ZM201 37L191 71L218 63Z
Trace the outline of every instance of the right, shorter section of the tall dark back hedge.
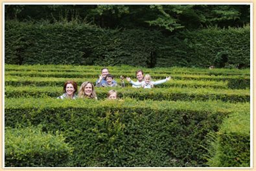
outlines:
M157 67L250 67L250 26L185 30L161 42Z

